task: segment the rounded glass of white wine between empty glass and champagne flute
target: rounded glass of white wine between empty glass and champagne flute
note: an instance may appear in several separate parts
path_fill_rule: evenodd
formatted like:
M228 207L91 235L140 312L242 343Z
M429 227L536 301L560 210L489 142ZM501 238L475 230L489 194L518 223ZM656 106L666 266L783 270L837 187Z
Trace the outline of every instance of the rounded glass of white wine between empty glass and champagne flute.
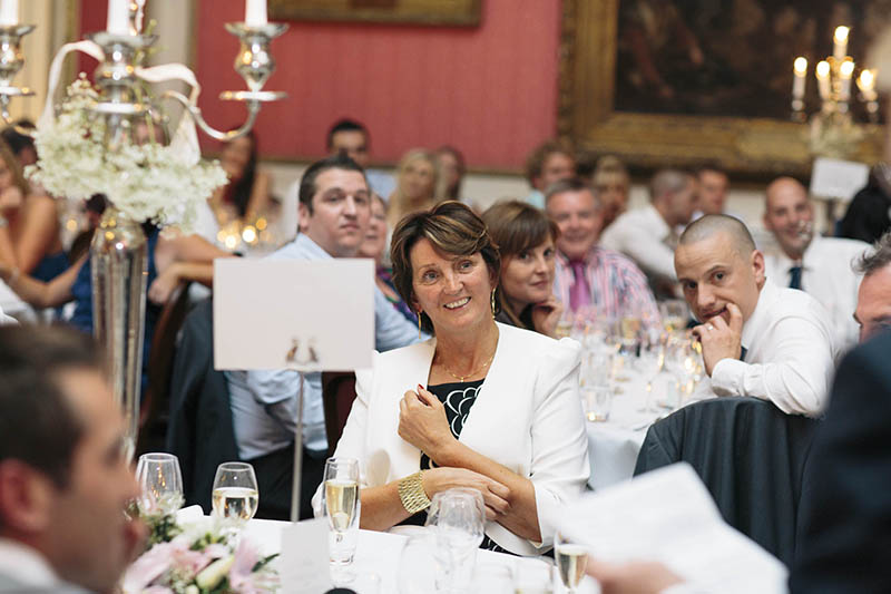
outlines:
M254 467L247 462L223 462L216 469L213 490L214 517L226 532L238 534L254 517L260 491Z

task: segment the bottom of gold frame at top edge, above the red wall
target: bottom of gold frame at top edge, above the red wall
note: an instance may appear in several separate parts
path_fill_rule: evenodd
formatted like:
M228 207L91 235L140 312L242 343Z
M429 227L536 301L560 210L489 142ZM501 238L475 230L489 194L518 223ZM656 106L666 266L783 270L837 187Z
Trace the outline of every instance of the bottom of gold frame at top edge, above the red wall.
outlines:
M270 0L276 20L477 27L482 0Z

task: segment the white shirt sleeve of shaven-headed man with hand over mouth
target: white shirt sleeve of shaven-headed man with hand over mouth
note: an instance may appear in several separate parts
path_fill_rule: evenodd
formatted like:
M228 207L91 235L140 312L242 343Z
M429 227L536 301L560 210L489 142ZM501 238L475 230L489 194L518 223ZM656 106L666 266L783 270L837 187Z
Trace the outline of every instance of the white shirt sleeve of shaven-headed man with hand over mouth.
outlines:
M718 396L770 400L786 413L816 416L825 405L834 369L826 337L812 321L786 315L758 337L763 363L723 359L712 370Z

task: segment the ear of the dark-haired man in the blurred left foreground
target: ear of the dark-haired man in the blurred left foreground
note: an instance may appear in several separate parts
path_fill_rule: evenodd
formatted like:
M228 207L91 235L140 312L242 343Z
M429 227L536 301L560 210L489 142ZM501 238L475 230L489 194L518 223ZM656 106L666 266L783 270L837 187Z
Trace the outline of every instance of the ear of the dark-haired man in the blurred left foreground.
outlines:
M20 460L0 461L0 526L37 534L51 529L56 487L43 473Z

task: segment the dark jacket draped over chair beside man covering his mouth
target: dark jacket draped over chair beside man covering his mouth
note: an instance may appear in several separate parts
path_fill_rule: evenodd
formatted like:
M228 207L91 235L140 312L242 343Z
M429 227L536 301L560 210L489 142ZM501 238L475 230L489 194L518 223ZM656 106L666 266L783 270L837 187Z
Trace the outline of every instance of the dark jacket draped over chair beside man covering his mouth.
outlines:
M634 474L689 462L727 524L791 564L816 422L757 398L695 402L649 428Z

